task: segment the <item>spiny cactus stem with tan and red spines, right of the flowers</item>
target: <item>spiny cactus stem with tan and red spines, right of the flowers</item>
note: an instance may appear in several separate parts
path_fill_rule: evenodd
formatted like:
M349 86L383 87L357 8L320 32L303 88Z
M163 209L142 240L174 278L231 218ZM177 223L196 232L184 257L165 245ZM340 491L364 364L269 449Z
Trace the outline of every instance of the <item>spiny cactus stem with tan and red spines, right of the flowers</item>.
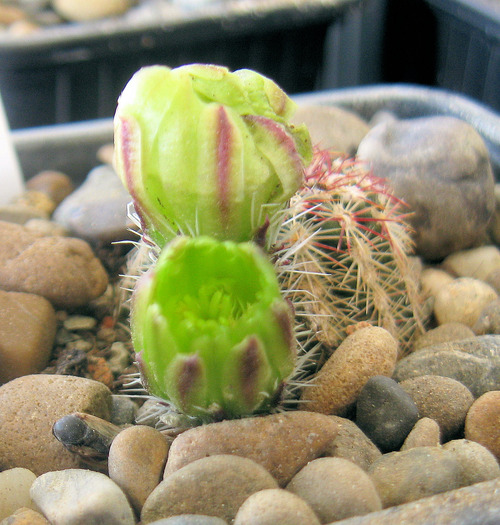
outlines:
M356 323L387 329L403 351L423 328L406 218L405 204L360 161L316 151L275 254L303 328L297 388Z

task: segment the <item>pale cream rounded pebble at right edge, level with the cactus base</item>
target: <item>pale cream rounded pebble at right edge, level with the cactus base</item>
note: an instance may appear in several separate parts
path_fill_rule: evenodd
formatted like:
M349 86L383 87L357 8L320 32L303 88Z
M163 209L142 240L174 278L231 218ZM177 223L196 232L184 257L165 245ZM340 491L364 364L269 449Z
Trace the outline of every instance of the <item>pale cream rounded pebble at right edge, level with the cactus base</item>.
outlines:
M472 277L459 277L436 295L434 315L438 324L457 322L472 328L484 308L497 298L488 284Z

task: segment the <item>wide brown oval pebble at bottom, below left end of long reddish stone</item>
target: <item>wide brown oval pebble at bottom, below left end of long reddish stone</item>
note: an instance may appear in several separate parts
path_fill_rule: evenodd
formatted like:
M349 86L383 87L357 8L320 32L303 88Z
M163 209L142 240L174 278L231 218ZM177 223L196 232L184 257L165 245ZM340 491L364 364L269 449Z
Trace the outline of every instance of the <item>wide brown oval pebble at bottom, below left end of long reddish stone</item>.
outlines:
M276 480L251 459L209 456L166 476L144 503L141 523L177 514L207 514L232 522L251 494L274 488Z

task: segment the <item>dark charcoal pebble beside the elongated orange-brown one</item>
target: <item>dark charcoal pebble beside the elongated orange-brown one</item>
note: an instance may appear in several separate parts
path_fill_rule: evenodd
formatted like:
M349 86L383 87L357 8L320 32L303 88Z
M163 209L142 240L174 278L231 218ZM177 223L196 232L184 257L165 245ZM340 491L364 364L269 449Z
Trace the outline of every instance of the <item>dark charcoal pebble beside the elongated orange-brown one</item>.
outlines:
M356 424L385 452L397 450L418 421L413 399L393 379L370 378L356 403Z

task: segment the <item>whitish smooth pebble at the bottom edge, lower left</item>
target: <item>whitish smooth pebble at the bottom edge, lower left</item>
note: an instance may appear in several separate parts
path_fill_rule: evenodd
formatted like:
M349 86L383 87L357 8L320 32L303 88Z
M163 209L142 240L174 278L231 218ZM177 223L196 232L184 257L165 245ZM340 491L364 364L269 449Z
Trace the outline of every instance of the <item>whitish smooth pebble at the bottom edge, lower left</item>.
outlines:
M58 470L39 476L31 497L51 523L134 525L134 513L116 483L100 472Z

